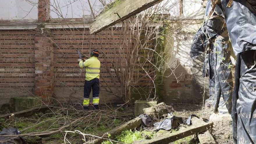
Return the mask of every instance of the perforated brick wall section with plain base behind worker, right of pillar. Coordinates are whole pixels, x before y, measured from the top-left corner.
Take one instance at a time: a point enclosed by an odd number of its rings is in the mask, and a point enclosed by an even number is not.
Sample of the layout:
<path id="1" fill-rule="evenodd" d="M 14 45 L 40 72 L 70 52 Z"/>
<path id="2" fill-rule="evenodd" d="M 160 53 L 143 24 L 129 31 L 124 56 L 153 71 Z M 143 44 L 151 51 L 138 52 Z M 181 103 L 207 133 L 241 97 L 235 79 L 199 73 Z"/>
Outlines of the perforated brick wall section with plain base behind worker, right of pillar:
<path id="1" fill-rule="evenodd" d="M 117 102 L 113 95 L 105 92 L 105 88 L 120 88 L 111 61 L 118 58 L 113 49 L 119 49 L 117 41 L 120 30 L 114 31 L 114 37 L 109 37 L 111 31 L 103 31 L 97 35 L 90 35 L 89 29 L 54 29 L 51 30 L 54 45 L 54 89 L 59 99 L 79 100 L 83 97 L 85 70 L 78 67 L 78 54 L 80 50 L 89 56 L 90 51 L 97 49 L 100 52 L 100 98 L 102 103 Z M 114 39 L 114 40 L 113 40 Z M 104 55 L 104 54 L 105 55 Z M 105 56 L 105 57 L 104 57 Z M 109 68 L 110 74 L 106 71 Z M 113 77 L 113 81 L 110 77 Z M 105 80 L 105 83 L 103 81 Z M 108 85 L 108 86 L 107 86 Z M 63 93 L 65 91 L 65 93 Z M 76 92 L 76 93 L 74 93 Z M 75 97 L 75 98 L 74 98 Z"/>

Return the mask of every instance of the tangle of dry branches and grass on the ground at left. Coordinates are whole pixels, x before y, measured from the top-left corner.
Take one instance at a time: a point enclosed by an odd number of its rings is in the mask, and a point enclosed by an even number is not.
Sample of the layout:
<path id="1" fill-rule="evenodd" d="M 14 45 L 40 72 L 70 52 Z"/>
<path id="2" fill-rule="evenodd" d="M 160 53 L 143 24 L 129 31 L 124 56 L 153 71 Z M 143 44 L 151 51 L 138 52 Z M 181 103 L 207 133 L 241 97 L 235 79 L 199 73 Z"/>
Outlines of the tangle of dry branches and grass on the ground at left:
<path id="1" fill-rule="evenodd" d="M 56 106 L 57 107 L 57 106 Z M 121 125 L 127 118 L 121 118 L 119 111 L 114 109 L 105 109 L 101 111 L 81 111 L 75 106 L 61 106 L 45 111 L 45 113 L 36 113 L 30 117 L 11 119 L 0 119 L 0 131 L 3 128 L 18 128 L 21 134 L 41 134 L 51 133 L 40 136 L 24 136 L 26 143 L 64 143 L 64 131 L 79 130 L 83 133 L 102 136 L 107 131 Z M 115 111 L 116 115 L 113 115 Z M 127 111 L 123 108 L 122 111 Z M 79 120 L 79 121 L 76 121 Z M 75 121 L 75 122 L 74 122 Z M 74 123 L 72 123 L 74 122 Z M 71 125 L 69 125 L 72 123 Z M 66 127 L 67 126 L 67 127 Z M 64 127 L 60 131 L 60 128 Z M 56 132 L 54 132 L 56 131 Z M 74 143 L 81 143 L 79 134 L 69 133 L 67 138 Z"/>

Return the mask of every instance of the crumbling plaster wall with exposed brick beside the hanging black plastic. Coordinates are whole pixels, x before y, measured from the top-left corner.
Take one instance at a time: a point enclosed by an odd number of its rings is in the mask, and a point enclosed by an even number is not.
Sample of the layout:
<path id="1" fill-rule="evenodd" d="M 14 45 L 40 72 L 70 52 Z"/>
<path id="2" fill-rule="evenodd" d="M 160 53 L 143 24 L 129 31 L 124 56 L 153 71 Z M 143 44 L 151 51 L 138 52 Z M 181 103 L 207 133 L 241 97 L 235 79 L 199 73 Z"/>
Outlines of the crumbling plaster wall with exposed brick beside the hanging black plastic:
<path id="1" fill-rule="evenodd" d="M 203 95 L 208 95 L 208 79 L 202 77 L 204 57 L 192 60 L 189 55 L 195 32 L 201 25 L 202 20 L 191 19 L 170 24 L 167 33 L 172 37 L 166 39 L 166 48 L 170 54 L 164 80 L 166 103 L 201 103 Z"/>

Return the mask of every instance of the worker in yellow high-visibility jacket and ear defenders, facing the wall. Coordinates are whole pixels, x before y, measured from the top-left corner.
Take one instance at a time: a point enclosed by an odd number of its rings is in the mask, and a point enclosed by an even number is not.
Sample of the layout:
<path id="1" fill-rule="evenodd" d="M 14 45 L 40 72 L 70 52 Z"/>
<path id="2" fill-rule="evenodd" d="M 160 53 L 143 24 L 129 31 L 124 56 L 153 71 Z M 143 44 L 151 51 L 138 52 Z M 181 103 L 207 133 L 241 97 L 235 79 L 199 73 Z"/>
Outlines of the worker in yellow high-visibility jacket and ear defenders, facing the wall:
<path id="1" fill-rule="evenodd" d="M 94 49 L 90 52 L 90 58 L 78 59 L 79 67 L 86 70 L 85 83 L 83 88 L 83 108 L 89 110 L 89 96 L 93 89 L 93 109 L 99 109 L 99 51 Z M 85 61 L 84 61 L 85 60 Z"/>

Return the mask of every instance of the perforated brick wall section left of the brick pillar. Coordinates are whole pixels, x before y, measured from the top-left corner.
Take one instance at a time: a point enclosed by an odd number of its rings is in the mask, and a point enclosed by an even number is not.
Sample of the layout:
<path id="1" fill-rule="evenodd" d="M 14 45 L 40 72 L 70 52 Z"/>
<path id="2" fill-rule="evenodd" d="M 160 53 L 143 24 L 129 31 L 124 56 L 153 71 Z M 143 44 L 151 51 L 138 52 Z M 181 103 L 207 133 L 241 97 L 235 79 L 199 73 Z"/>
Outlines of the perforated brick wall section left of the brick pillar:
<path id="1" fill-rule="evenodd" d="M 35 91 L 35 32 L 0 31 L 0 99 L 28 96 Z"/>

